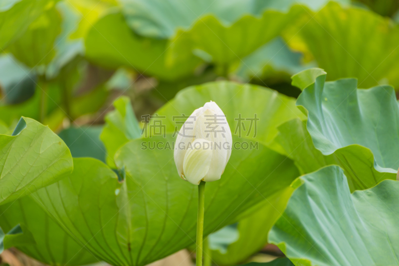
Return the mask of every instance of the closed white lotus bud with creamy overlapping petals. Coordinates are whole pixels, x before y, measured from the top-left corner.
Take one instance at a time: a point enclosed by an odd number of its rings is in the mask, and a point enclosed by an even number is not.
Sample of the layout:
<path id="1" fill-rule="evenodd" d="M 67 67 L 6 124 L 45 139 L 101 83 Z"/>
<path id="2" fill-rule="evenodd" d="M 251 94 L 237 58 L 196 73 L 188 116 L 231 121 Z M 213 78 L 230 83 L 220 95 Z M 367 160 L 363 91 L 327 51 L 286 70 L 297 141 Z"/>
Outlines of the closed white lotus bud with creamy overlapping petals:
<path id="1" fill-rule="evenodd" d="M 201 180 L 219 180 L 231 147 L 231 131 L 224 113 L 215 102 L 205 103 L 179 131 L 174 153 L 179 176 L 195 185 Z"/>

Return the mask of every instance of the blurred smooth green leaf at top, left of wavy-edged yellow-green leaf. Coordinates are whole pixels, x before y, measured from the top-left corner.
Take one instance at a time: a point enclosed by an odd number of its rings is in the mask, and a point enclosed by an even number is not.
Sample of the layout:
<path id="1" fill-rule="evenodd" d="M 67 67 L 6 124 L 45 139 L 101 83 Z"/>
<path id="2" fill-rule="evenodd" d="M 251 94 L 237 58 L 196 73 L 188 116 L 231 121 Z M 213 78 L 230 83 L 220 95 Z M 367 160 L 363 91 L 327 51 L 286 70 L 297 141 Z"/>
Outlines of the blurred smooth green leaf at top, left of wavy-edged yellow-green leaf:
<path id="1" fill-rule="evenodd" d="M 125 66 L 163 79 L 176 79 L 194 72 L 200 59 L 191 57 L 179 65 L 166 60 L 167 40 L 136 35 L 119 12 L 100 18 L 85 38 L 86 57 L 102 66 Z"/>

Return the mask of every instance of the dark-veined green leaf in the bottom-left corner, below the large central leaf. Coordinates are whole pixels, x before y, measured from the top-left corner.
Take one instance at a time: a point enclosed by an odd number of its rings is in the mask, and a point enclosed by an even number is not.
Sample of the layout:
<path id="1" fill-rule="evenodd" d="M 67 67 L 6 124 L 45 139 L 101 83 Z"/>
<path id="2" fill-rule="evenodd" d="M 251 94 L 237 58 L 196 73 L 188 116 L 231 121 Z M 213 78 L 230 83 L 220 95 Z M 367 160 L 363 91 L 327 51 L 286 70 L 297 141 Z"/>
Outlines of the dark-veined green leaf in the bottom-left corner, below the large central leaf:
<path id="1" fill-rule="evenodd" d="M 26 255 L 53 266 L 85 265 L 97 262 L 84 247 L 72 239 L 29 196 L 0 206 L 0 226 L 4 231 L 23 225 L 30 236 L 23 232 L 20 242 L 13 246 Z M 30 238 L 33 243 L 26 245 Z"/>

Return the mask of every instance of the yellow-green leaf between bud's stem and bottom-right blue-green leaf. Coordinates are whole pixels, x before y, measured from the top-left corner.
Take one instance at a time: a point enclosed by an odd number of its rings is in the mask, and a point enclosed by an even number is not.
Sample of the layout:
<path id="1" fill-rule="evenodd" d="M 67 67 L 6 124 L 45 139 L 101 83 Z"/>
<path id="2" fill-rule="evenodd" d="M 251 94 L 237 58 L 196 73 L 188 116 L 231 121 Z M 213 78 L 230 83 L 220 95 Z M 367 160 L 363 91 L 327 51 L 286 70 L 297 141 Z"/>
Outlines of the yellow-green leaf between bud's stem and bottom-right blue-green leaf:
<path id="1" fill-rule="evenodd" d="M 268 233 L 280 217 L 292 192 L 292 188 L 287 187 L 284 192 L 264 200 L 258 211 L 240 220 L 236 229 L 238 238 L 224 250 L 213 250 L 213 262 L 220 266 L 238 265 L 260 251 L 267 244 Z M 211 243 L 212 238 L 208 238 Z"/>

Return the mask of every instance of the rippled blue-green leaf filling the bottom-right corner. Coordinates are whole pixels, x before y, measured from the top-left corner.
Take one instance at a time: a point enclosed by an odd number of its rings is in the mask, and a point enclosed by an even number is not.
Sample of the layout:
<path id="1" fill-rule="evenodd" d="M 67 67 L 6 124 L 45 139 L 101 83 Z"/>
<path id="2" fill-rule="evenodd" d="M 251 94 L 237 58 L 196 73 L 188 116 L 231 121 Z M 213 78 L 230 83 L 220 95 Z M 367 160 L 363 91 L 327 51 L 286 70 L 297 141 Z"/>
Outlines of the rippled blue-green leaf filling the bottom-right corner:
<path id="1" fill-rule="evenodd" d="M 351 195 L 342 169 L 329 166 L 293 185 L 269 241 L 295 265 L 398 265 L 399 182 Z"/>

